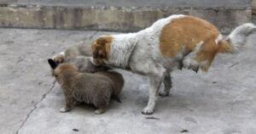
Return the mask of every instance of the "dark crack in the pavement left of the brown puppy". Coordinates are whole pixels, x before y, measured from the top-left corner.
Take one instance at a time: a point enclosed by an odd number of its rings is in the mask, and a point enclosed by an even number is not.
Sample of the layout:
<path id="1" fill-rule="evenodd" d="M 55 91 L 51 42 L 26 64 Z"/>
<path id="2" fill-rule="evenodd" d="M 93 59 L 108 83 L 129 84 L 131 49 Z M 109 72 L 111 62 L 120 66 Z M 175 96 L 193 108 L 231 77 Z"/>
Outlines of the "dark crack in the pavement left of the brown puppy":
<path id="1" fill-rule="evenodd" d="M 55 87 L 55 83 L 56 83 L 56 80 L 52 82 L 52 86 L 49 88 L 49 91 L 46 92 L 46 93 L 44 93 L 44 95 L 42 96 L 42 98 L 40 99 L 40 101 L 39 101 L 38 103 L 34 104 L 34 108 L 31 109 L 28 114 L 26 114 L 26 119 L 23 120 L 23 122 L 21 123 L 20 127 L 19 127 L 18 130 L 16 131 L 16 134 L 19 134 L 19 131 L 20 131 L 20 129 L 25 125 L 26 120 L 28 120 L 28 118 L 29 118 L 30 115 L 33 113 L 33 111 L 38 108 L 38 104 L 41 103 L 41 102 L 43 102 L 43 100 L 44 100 L 44 98 L 46 98 L 47 94 L 49 94 L 49 92 L 52 91 L 52 89 Z"/>

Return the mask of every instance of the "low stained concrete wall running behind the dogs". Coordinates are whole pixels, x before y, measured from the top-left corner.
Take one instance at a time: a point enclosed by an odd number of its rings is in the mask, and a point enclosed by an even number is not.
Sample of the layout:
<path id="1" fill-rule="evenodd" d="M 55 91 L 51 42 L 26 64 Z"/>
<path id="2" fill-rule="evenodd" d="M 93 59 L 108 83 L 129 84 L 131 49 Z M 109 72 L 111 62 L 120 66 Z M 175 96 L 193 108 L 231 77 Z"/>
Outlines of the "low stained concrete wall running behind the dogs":
<path id="1" fill-rule="evenodd" d="M 214 3 L 212 0 L 160 0 L 158 3 L 154 0 L 73 0 L 68 3 L 71 1 L 13 0 L 2 3 L 0 27 L 139 31 L 171 14 L 191 14 L 209 20 L 220 31 L 229 33 L 237 25 L 252 20 L 249 0 L 215 0 Z M 121 5 L 124 7 L 120 8 Z"/>

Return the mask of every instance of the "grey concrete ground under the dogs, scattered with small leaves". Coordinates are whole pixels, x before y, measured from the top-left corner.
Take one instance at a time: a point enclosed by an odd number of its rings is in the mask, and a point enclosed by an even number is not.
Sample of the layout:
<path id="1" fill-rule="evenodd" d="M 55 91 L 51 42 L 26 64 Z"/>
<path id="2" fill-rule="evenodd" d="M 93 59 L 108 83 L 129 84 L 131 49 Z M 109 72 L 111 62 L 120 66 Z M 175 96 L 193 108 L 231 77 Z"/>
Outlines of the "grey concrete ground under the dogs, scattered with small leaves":
<path id="1" fill-rule="evenodd" d="M 122 103 L 105 114 L 83 105 L 60 113 L 64 97 L 47 59 L 103 31 L 0 29 L 0 133 L 3 134 L 255 134 L 256 34 L 236 55 L 219 55 L 208 73 L 176 70 L 172 94 L 143 115 L 148 78 L 125 77 Z"/>

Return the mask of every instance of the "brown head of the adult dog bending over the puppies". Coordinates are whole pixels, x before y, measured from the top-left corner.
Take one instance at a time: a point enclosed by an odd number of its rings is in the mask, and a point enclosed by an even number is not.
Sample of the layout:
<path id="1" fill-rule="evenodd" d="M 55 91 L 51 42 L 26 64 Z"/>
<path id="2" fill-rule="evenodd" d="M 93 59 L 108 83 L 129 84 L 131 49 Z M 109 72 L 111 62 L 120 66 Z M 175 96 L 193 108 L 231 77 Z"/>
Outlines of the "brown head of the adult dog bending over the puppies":
<path id="1" fill-rule="evenodd" d="M 92 42 L 91 49 L 93 64 L 106 64 L 104 61 L 108 61 L 112 41 L 112 36 L 101 36 Z"/>

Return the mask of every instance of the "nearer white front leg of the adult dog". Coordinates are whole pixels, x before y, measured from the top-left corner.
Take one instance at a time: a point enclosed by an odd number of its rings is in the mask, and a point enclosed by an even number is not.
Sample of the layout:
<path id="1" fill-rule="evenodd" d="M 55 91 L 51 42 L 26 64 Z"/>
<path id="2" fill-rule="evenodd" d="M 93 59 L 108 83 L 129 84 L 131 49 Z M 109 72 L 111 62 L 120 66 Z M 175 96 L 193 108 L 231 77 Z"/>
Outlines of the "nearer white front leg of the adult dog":
<path id="1" fill-rule="evenodd" d="M 163 77 L 164 77 L 163 74 L 164 73 L 160 73 L 158 75 L 149 76 L 150 89 L 149 89 L 148 105 L 143 109 L 142 114 L 153 114 L 160 84 L 163 81 Z"/>

